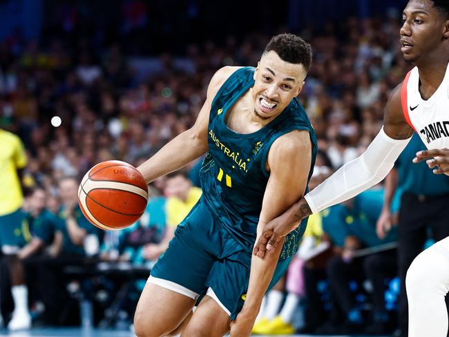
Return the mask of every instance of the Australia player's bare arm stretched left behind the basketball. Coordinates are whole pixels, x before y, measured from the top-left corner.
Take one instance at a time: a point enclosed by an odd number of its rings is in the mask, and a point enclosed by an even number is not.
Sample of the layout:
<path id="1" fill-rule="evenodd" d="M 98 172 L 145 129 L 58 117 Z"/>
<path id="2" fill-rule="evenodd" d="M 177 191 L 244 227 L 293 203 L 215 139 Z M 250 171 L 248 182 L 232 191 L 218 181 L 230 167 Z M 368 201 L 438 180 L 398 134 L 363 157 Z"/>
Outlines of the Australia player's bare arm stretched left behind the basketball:
<path id="1" fill-rule="evenodd" d="M 209 113 L 213 97 L 218 89 L 233 72 L 239 67 L 224 67 L 213 75 L 207 88 L 207 99 L 204 102 L 195 124 L 184 131 L 164 147 L 153 157 L 137 167 L 147 183 L 157 177 L 166 175 L 189 164 L 207 151 L 207 126 L 209 125 Z"/>

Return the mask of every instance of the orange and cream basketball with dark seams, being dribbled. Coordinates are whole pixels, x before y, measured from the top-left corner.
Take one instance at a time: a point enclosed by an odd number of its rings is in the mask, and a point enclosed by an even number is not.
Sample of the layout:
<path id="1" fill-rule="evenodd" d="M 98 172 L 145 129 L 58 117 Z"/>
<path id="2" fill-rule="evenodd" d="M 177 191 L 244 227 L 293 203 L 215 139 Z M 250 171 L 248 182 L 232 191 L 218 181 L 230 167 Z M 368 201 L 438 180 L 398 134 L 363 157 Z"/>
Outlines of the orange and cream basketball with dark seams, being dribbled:
<path id="1" fill-rule="evenodd" d="M 136 222 L 148 202 L 148 186 L 137 169 L 120 160 L 90 168 L 78 189 L 86 218 L 101 229 L 123 229 Z"/>

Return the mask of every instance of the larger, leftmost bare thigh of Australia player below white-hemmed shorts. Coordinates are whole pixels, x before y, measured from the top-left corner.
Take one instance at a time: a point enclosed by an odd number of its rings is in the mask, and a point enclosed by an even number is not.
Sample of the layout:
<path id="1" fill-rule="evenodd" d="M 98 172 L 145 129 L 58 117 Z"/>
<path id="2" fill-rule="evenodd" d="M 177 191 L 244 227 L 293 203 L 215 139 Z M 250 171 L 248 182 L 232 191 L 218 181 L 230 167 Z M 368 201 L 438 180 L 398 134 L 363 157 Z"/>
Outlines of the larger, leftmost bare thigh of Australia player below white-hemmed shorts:
<path id="1" fill-rule="evenodd" d="M 189 316 L 193 305 L 193 298 L 147 282 L 135 309 L 135 334 L 138 337 L 169 334 Z"/>

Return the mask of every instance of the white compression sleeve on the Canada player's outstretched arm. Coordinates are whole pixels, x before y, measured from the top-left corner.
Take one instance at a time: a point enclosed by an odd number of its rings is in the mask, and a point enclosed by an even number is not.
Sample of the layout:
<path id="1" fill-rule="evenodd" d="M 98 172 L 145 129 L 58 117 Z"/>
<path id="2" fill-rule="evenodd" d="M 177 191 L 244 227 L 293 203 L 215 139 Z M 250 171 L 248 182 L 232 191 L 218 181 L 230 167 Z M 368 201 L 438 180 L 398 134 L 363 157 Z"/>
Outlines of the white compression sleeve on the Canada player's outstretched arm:
<path id="1" fill-rule="evenodd" d="M 341 166 L 322 184 L 305 195 L 312 213 L 338 204 L 381 182 L 411 138 L 390 138 L 383 128 L 366 151 Z"/>

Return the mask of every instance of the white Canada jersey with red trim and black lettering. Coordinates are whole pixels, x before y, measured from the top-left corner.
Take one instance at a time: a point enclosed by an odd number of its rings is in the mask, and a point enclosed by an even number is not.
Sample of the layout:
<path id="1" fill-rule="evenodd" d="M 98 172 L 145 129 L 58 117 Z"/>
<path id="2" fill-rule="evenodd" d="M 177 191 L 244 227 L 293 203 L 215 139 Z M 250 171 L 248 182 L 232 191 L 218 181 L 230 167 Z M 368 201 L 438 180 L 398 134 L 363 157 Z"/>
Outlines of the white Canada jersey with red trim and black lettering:
<path id="1" fill-rule="evenodd" d="M 414 67 L 405 76 L 401 103 L 405 120 L 427 148 L 449 148 L 449 66 L 440 86 L 427 100 L 419 93 L 419 72 Z"/>

